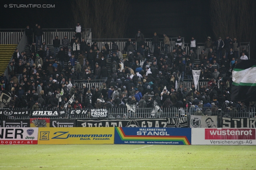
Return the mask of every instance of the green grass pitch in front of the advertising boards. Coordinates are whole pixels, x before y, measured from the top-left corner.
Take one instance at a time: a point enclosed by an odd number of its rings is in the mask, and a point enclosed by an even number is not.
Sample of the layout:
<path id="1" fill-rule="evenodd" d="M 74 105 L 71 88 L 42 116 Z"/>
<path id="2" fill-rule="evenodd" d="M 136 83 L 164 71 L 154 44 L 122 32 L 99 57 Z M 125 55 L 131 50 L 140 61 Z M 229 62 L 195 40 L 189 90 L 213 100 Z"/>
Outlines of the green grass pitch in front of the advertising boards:
<path id="1" fill-rule="evenodd" d="M 3 170 L 255 170 L 256 146 L 0 145 Z"/>

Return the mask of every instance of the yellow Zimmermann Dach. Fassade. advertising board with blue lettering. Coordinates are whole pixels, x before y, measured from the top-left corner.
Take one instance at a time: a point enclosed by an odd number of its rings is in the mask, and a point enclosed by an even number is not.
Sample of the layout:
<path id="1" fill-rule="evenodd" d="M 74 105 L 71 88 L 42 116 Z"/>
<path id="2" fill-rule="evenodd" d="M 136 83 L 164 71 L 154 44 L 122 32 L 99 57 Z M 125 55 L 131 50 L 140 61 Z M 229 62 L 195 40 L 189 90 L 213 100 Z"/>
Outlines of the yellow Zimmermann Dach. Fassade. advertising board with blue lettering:
<path id="1" fill-rule="evenodd" d="M 114 144 L 114 127 L 39 128 L 38 144 Z"/>

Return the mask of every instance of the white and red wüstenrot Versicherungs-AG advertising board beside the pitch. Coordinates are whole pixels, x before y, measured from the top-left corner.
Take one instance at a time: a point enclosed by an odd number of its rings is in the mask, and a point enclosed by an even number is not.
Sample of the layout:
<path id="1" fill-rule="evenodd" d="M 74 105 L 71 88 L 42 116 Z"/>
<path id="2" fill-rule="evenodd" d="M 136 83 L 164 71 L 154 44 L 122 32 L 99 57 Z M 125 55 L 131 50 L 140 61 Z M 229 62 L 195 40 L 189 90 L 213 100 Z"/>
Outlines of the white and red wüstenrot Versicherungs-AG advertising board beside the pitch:
<path id="1" fill-rule="evenodd" d="M 256 145 L 256 129 L 192 128 L 191 145 Z"/>

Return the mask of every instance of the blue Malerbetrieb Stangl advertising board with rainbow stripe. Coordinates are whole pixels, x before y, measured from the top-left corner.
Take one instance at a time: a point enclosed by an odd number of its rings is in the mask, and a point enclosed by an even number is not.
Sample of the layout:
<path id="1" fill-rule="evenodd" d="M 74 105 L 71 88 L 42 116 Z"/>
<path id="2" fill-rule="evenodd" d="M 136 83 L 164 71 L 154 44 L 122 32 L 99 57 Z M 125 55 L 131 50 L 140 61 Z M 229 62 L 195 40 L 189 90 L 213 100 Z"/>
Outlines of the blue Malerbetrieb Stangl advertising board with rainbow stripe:
<path id="1" fill-rule="evenodd" d="M 115 127 L 114 144 L 191 145 L 191 128 Z"/>

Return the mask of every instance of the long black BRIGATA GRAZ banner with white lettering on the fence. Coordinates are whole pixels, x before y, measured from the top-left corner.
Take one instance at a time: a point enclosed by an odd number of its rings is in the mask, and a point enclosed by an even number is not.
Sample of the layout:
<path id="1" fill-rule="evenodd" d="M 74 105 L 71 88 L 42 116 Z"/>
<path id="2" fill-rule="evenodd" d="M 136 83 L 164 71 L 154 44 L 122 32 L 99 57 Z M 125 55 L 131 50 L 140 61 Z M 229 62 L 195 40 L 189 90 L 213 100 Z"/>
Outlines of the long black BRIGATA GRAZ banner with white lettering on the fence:
<path id="1" fill-rule="evenodd" d="M 187 118 L 78 120 L 77 127 L 188 127 Z"/>

